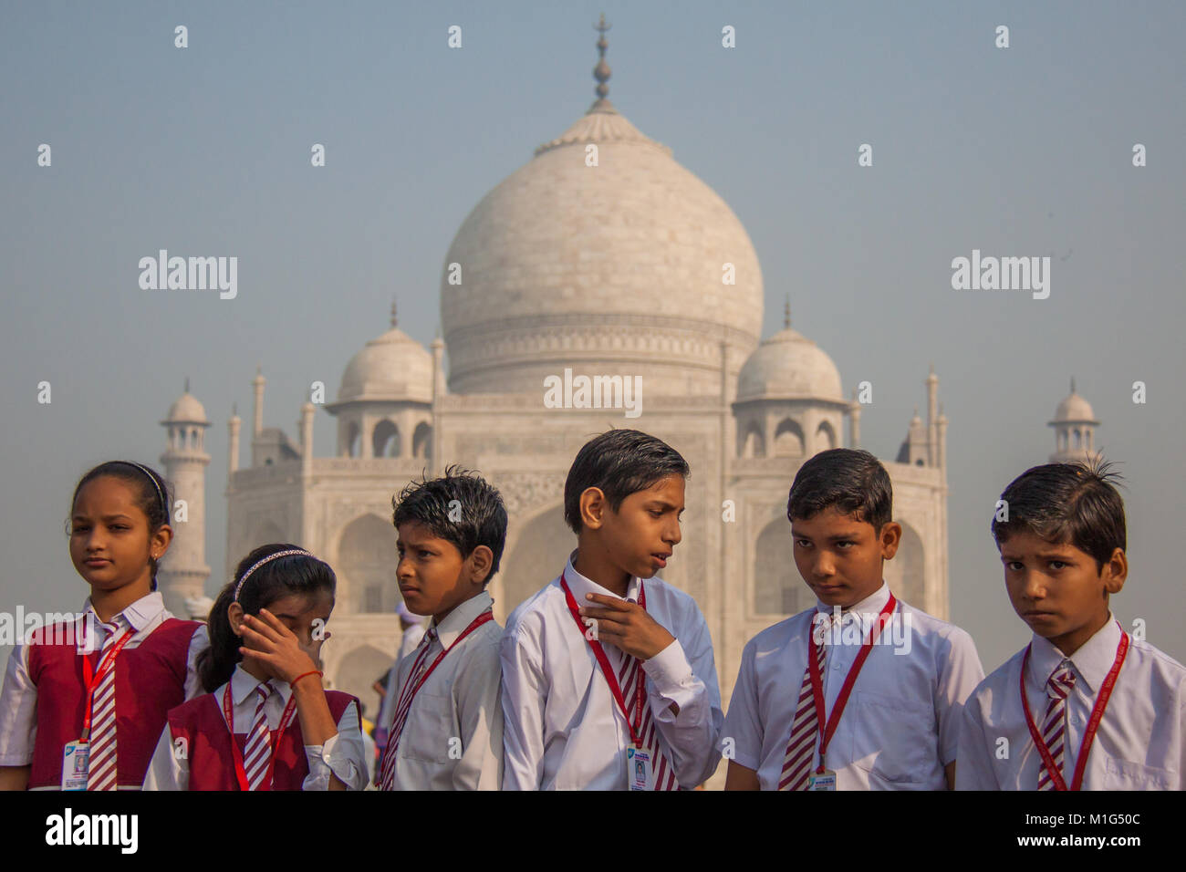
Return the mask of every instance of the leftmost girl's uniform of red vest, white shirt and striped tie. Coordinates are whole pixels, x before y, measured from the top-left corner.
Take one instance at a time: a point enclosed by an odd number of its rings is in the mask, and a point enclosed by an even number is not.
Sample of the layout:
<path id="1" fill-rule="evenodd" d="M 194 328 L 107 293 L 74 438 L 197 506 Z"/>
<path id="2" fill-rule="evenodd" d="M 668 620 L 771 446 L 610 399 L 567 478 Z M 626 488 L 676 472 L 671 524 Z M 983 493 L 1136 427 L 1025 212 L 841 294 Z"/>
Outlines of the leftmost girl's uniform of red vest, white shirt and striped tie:
<path id="1" fill-rule="evenodd" d="M 95 670 L 121 642 L 104 681 Z M 89 666 L 95 700 L 88 789 L 139 790 L 166 713 L 200 693 L 195 663 L 208 645 L 205 624 L 174 618 L 160 592 L 107 624 L 88 597 L 81 616 L 40 628 L 8 657 L 0 766 L 30 765 L 31 790 L 63 787 L 66 745 L 82 738 Z"/>

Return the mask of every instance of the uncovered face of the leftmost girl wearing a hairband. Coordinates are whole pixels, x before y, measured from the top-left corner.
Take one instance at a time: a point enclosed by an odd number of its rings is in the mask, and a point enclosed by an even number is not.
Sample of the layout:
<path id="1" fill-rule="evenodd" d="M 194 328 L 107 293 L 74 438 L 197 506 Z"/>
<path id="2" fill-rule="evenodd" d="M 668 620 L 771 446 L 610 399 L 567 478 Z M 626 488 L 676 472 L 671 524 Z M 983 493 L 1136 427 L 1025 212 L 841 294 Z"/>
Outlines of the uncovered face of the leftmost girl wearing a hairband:
<path id="1" fill-rule="evenodd" d="M 148 517 L 135 488 L 114 476 L 93 478 L 78 491 L 70 515 L 70 560 L 93 588 L 152 587 L 149 558 L 160 559 L 173 532 L 168 524 L 149 535 Z"/>

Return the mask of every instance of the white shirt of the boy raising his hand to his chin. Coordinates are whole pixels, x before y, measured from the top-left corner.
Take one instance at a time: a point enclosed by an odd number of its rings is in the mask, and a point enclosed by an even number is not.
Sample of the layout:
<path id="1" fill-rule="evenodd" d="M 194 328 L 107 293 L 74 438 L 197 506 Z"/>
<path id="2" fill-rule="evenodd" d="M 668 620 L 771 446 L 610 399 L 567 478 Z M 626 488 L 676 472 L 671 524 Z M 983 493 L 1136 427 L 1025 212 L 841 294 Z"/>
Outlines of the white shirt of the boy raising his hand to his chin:
<path id="1" fill-rule="evenodd" d="M 576 572 L 572 556 L 565 577 L 578 605 L 592 605 L 586 593 L 621 599 Z M 721 757 L 716 739 L 723 714 L 713 641 L 696 600 L 657 577 L 630 579 L 626 599 L 638 599 L 639 584 L 645 585 L 648 613 L 675 636 L 643 661 L 646 701 L 676 778 L 694 788 L 712 776 Z M 617 673 L 623 653 L 601 644 Z M 630 730 L 568 610 L 560 578 L 508 619 L 502 663 L 503 789 L 625 790 Z M 671 714 L 672 702 L 678 714 Z"/>

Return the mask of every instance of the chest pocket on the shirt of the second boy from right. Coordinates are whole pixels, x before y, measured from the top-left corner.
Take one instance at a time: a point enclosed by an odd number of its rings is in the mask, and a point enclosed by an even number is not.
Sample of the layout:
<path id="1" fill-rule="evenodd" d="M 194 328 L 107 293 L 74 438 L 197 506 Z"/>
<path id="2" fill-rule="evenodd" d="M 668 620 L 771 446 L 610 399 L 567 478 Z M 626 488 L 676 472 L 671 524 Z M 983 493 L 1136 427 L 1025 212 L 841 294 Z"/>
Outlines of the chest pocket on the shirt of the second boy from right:
<path id="1" fill-rule="evenodd" d="M 856 690 L 849 701 L 853 705 L 855 766 L 907 789 L 935 781 L 938 737 L 930 706 L 868 690 Z M 843 717 L 848 714 L 846 711 Z"/>

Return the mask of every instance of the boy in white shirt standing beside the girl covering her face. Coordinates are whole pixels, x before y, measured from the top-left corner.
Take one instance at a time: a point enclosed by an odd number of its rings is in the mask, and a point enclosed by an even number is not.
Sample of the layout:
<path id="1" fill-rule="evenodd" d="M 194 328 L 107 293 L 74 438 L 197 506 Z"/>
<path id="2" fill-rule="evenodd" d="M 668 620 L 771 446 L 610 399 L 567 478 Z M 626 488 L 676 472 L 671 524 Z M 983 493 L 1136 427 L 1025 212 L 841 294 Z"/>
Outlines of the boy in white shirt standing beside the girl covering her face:
<path id="1" fill-rule="evenodd" d="M 415 615 L 432 615 L 400 661 L 385 724 L 381 790 L 498 790 L 502 628 L 486 585 L 506 539 L 506 509 L 480 476 L 449 466 L 391 501 L 396 579 Z"/>

